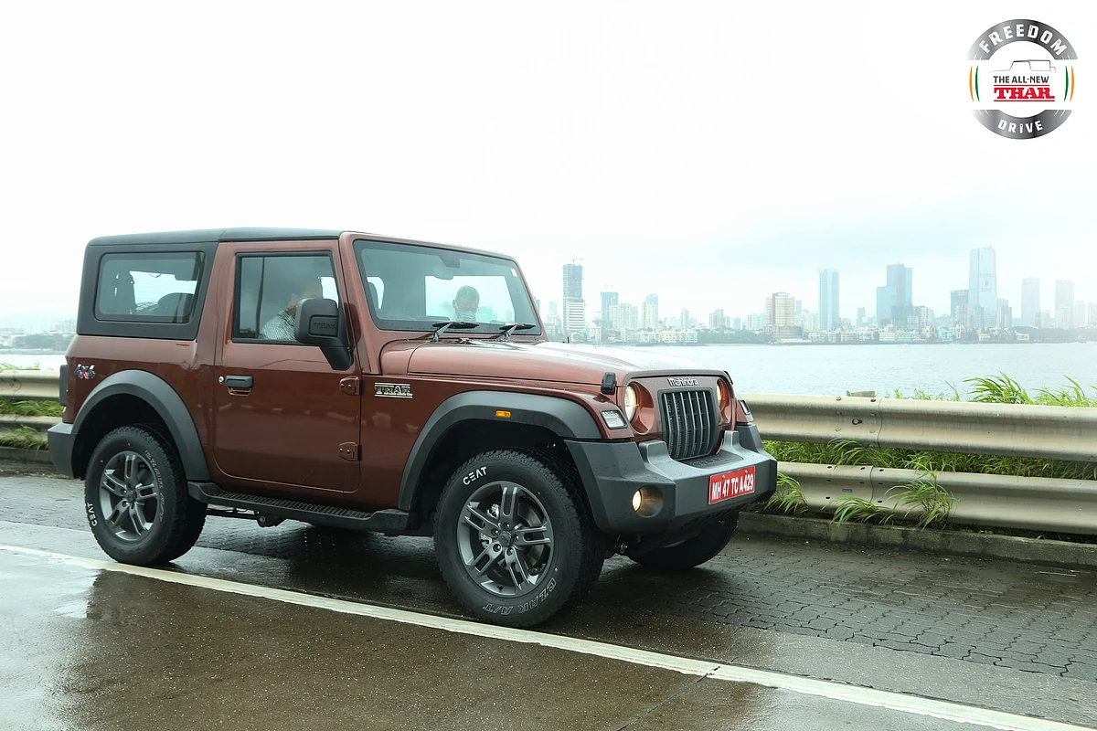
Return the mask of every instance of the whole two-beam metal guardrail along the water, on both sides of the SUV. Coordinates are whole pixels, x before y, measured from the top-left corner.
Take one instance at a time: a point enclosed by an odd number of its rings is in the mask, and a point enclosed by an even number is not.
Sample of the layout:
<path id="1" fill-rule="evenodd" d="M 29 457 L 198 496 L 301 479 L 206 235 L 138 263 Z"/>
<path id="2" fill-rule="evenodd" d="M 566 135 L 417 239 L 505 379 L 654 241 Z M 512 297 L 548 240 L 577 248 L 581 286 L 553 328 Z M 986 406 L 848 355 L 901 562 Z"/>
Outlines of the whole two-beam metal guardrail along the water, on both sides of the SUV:
<path id="1" fill-rule="evenodd" d="M 56 400 L 56 372 L 0 372 L 0 397 Z M 960 454 L 1097 461 L 1097 409 L 916 401 L 868 397 L 742 393 L 762 436 L 783 442 L 852 439 L 878 447 Z M 57 419 L 0 416 L 0 431 Z M 900 509 L 892 488 L 919 479 L 915 470 L 781 462 L 815 511 L 842 496 Z M 1061 480 L 938 472 L 957 503 L 953 523 L 1097 535 L 1097 480 Z"/>

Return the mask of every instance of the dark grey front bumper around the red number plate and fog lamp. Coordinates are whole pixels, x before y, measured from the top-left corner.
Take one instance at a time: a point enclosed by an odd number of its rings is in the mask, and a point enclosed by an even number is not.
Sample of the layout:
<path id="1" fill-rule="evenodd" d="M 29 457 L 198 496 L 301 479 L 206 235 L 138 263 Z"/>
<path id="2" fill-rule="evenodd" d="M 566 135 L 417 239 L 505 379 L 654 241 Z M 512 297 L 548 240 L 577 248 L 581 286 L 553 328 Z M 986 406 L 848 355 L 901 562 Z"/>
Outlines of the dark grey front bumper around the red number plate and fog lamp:
<path id="1" fill-rule="evenodd" d="M 766 452 L 753 423 L 724 433 L 720 449 L 709 457 L 676 461 L 665 442 L 573 442 L 575 458 L 590 501 L 595 523 L 613 534 L 674 533 L 698 518 L 735 512 L 769 498 L 777 490 L 777 460 Z M 709 504 L 709 479 L 744 467 L 755 468 L 755 491 Z M 644 516 L 632 507 L 633 494 L 658 492 L 661 509 Z"/>

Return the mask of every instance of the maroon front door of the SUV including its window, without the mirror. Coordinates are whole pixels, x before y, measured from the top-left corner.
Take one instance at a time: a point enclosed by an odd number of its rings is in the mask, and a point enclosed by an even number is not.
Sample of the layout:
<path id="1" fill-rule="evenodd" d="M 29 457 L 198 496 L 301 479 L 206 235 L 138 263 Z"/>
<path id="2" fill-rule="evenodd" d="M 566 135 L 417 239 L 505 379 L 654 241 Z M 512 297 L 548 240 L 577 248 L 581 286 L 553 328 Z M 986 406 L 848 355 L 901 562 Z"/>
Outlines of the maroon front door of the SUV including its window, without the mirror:
<path id="1" fill-rule="evenodd" d="M 301 299 L 323 296 L 342 307 L 336 242 L 303 241 L 293 252 L 222 245 L 233 248 L 234 286 L 224 288 L 214 379 L 218 469 L 265 492 L 357 490 L 361 397 L 342 381 L 359 366 L 333 370 L 319 347 L 293 333 Z"/>

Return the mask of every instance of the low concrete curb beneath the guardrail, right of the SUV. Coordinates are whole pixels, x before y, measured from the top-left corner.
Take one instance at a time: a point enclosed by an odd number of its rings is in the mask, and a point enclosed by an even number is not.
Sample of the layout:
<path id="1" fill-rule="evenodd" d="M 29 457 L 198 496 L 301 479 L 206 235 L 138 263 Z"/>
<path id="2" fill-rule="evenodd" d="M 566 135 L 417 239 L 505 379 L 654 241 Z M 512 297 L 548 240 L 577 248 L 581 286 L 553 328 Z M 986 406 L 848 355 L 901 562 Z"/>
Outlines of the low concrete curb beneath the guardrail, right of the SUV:
<path id="1" fill-rule="evenodd" d="M 925 553 L 1007 559 L 1026 563 L 1097 569 L 1097 545 L 957 530 L 923 530 L 867 523 L 837 524 L 817 517 L 739 513 L 738 534 L 806 538 L 849 546 L 902 548 Z"/>

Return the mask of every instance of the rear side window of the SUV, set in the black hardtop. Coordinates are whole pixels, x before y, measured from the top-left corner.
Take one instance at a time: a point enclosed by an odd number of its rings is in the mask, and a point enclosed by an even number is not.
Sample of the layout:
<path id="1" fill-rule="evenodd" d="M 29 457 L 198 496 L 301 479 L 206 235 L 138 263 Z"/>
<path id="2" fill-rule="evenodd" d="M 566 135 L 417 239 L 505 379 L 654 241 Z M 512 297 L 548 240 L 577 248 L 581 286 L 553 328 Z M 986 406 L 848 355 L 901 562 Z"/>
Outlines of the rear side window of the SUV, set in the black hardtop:
<path id="1" fill-rule="evenodd" d="M 189 322 L 203 263 L 200 252 L 105 254 L 99 262 L 95 319 Z"/>

